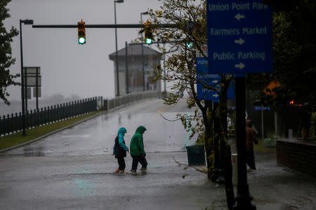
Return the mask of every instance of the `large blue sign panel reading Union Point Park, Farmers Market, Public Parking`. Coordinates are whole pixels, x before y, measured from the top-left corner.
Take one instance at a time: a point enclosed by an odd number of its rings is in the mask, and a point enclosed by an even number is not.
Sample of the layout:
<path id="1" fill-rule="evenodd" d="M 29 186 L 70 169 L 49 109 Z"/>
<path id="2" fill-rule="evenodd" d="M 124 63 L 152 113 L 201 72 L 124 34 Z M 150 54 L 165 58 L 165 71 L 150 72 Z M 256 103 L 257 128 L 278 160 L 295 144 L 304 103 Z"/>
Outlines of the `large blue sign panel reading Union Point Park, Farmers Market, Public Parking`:
<path id="1" fill-rule="evenodd" d="M 262 0 L 207 0 L 209 73 L 272 71 L 272 10 Z"/>

